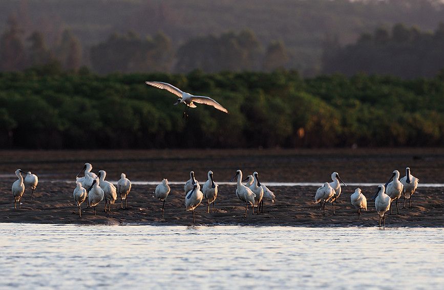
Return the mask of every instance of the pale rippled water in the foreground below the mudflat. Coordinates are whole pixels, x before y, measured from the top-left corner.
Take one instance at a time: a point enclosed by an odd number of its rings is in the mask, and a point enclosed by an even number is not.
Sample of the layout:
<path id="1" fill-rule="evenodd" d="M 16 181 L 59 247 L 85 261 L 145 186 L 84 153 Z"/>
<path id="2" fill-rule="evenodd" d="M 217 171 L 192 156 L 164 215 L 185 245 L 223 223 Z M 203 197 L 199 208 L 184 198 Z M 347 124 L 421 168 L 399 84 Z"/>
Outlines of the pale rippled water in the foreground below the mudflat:
<path id="1" fill-rule="evenodd" d="M 0 224 L 0 288 L 442 289 L 444 229 Z"/>

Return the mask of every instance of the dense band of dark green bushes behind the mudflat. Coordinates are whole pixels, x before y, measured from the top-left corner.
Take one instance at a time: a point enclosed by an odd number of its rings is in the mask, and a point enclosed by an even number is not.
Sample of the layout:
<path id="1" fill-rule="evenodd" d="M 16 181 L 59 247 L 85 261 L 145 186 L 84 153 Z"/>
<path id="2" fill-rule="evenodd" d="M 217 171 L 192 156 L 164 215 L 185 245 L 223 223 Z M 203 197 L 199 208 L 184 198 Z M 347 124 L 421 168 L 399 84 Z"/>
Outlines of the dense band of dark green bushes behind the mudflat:
<path id="1" fill-rule="evenodd" d="M 215 98 L 182 119 L 172 83 Z M 357 74 L 110 74 L 60 65 L 0 73 L 2 148 L 234 148 L 444 145 L 444 72 L 402 80 Z"/>

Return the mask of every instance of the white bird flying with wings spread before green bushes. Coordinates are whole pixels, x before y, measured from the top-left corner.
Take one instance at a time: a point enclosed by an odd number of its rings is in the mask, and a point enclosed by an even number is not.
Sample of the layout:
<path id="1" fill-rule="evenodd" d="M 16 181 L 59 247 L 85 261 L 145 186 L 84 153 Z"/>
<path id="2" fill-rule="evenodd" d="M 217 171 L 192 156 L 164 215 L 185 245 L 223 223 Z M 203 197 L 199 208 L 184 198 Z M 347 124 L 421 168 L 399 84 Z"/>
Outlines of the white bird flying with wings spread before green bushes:
<path id="1" fill-rule="evenodd" d="M 175 94 L 176 96 L 179 97 L 179 99 L 177 99 L 177 102 L 174 105 L 177 105 L 179 103 L 184 103 L 185 106 L 185 110 L 183 111 L 183 115 L 182 118 L 185 117 L 186 114 L 186 119 L 188 119 L 188 110 L 190 107 L 195 108 L 196 105 L 194 103 L 198 103 L 198 104 L 205 104 L 205 105 L 210 105 L 213 106 L 215 108 L 217 108 L 218 110 L 221 110 L 225 113 L 228 114 L 228 110 L 226 108 L 224 108 L 221 104 L 219 104 L 218 102 L 216 102 L 215 100 L 213 100 L 212 98 L 209 97 L 204 97 L 204 96 L 194 96 L 185 92 L 182 92 L 181 90 L 179 90 L 177 87 L 175 87 L 174 85 L 171 85 L 169 83 L 166 82 L 160 82 L 160 81 L 145 81 L 146 84 L 155 86 L 157 88 L 162 88 L 163 90 L 166 90 L 170 93 Z"/>

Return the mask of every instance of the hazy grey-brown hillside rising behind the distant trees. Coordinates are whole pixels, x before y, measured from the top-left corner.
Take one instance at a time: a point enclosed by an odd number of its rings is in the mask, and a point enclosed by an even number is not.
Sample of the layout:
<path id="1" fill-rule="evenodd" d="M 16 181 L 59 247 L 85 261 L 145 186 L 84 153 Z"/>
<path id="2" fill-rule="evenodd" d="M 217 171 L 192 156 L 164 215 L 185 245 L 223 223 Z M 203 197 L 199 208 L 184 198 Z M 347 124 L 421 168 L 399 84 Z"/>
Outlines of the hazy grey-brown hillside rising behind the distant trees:
<path id="1" fill-rule="evenodd" d="M 127 35 L 131 31 L 138 36 L 139 44 L 148 48 L 153 48 L 152 43 L 145 41 L 145 37 L 155 38 L 159 32 L 163 33 L 176 53 L 170 62 L 173 64 L 183 57 L 177 54 L 179 48 L 190 49 L 194 41 L 208 43 L 212 38 L 220 40 L 227 32 L 251 31 L 260 41 L 260 57 L 267 58 L 264 62 L 257 59 L 255 68 L 270 68 L 270 59 L 276 56 L 266 52 L 276 48 L 273 43 L 280 41 L 285 50 L 278 54 L 284 55 L 279 58 L 283 60 L 279 64 L 298 70 L 303 76 L 314 76 L 322 72 L 321 56 L 327 37 L 338 39 L 339 44 L 345 46 L 355 42 L 363 32 L 397 23 L 417 26 L 427 32 L 436 29 L 444 19 L 443 6 L 439 0 L 273 0 L 272 3 L 269 0 L 8 0 L 0 1 L 0 33 L 8 33 L 8 19 L 14 17 L 19 24 L 17 37 L 25 46 L 30 46 L 27 39 L 33 33 L 41 33 L 57 59 L 67 68 L 78 68 L 94 64 L 90 59 L 91 48 L 108 43 L 116 33 Z M 72 36 L 63 40 L 62 35 L 67 31 Z M 69 52 L 57 52 L 67 48 Z M 155 47 L 153 50 L 156 53 Z M 128 53 L 122 54 L 128 59 Z M 273 61 L 271 68 L 276 63 Z M 155 65 L 149 71 L 156 70 Z M 189 72 L 197 66 L 186 68 Z M 116 70 L 106 65 L 92 68 L 100 73 L 107 69 Z M 170 73 L 183 72 L 182 66 L 171 65 L 167 69 Z M 223 66 L 201 69 L 218 72 Z M 120 72 L 134 70 L 132 62 L 118 69 Z"/>

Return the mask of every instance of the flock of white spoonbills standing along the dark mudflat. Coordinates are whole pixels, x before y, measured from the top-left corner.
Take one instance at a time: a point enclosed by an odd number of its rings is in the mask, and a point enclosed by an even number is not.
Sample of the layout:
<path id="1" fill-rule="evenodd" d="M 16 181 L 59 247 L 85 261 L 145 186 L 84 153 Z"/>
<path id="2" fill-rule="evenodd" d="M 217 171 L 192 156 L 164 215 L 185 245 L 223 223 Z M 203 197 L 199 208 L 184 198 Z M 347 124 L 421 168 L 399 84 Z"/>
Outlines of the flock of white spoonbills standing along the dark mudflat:
<path id="1" fill-rule="evenodd" d="M 117 199 L 117 194 L 120 195 L 120 208 L 127 209 L 126 207 L 126 197 L 131 190 L 131 181 L 126 178 L 125 173 L 120 175 L 120 180 L 117 182 L 117 187 L 111 182 L 105 180 L 107 172 L 100 170 L 98 175 L 91 172 L 92 165 L 90 163 L 85 163 L 83 168 L 76 176 L 76 188 L 73 192 L 74 200 L 79 209 L 79 217 L 81 217 L 80 205 L 87 201 L 87 207 L 94 208 L 94 215 L 96 214 L 95 206 L 99 204 L 103 199 L 105 199 L 105 212 L 111 209 L 111 204 L 114 204 Z M 78 177 L 81 173 L 84 176 Z M 23 178 L 21 173 L 26 174 Z M 194 209 L 200 205 L 202 200 L 205 198 L 207 200 L 207 213 L 209 213 L 209 205 L 213 204 L 213 210 L 216 212 L 215 200 L 218 193 L 218 185 L 214 182 L 213 171 L 209 170 L 207 177 L 208 180 L 204 183 L 203 187 L 200 186 L 199 182 L 196 180 L 194 171 L 189 172 L 189 180 L 185 182 L 185 209 L 186 211 L 191 210 L 193 212 L 193 221 L 196 222 Z M 30 171 L 25 172 L 21 169 L 15 171 L 18 180 L 12 184 L 12 195 L 14 196 L 14 208 L 16 208 L 17 202 L 19 203 L 25 192 L 25 184 L 31 187 L 31 199 L 32 193 L 37 186 L 38 178 L 35 174 Z M 236 175 L 231 179 L 234 181 L 237 177 L 237 188 L 236 196 L 245 203 L 245 216 L 247 215 L 248 204 L 251 205 L 252 213 L 254 213 L 255 207 L 257 208 L 257 213 L 264 211 L 264 199 L 270 199 L 274 203 L 276 196 L 269 190 L 265 185 L 259 182 L 258 172 L 253 172 L 252 175 L 248 175 L 245 180 L 242 180 L 242 171 L 237 170 Z M 341 183 L 347 186 L 339 177 L 339 173 L 333 172 L 331 174 L 332 182 L 324 183 L 324 185 L 316 191 L 315 203 L 320 203 L 322 208 L 322 202 L 324 202 L 323 214 L 325 215 L 325 205 L 327 202 L 331 203 L 333 206 L 334 214 L 334 202 L 341 194 Z M 246 185 L 242 182 L 247 181 Z M 379 185 L 376 194 L 372 199 L 375 200 L 375 208 L 379 215 L 379 227 L 381 226 L 381 219 L 383 219 L 383 226 L 385 227 L 385 214 L 390 209 L 391 205 L 395 201 L 397 214 L 399 214 L 398 209 L 398 199 L 401 195 L 404 195 L 404 207 L 406 206 L 406 199 L 409 199 L 410 207 L 412 194 L 415 192 L 418 186 L 419 180 L 410 173 L 410 168 L 406 168 L 406 176 L 399 179 L 399 171 L 394 170 L 389 181 L 385 185 Z M 162 204 L 162 217 L 165 206 L 165 199 L 170 193 L 170 186 L 168 186 L 168 180 L 163 179 L 155 189 L 155 196 L 159 198 Z M 125 208 L 123 208 L 123 200 L 125 200 Z M 367 198 L 362 193 L 360 188 L 356 188 L 354 193 L 350 196 L 351 204 L 357 209 L 358 219 L 361 215 L 361 209 L 367 210 Z"/>

